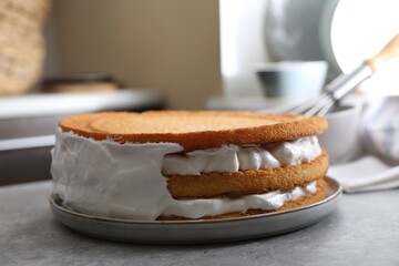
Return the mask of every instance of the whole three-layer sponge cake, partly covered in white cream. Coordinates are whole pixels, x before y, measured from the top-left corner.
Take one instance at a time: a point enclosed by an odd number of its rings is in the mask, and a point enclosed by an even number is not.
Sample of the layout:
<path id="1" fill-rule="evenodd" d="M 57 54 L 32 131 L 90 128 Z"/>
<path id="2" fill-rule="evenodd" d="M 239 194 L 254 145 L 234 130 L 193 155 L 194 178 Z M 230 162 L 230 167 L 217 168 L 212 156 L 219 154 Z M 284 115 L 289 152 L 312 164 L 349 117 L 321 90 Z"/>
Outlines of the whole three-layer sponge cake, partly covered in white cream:
<path id="1" fill-rule="evenodd" d="M 73 115 L 57 131 L 53 193 L 76 212 L 136 221 L 301 206 L 326 196 L 326 129 L 324 117 L 252 112 Z"/>

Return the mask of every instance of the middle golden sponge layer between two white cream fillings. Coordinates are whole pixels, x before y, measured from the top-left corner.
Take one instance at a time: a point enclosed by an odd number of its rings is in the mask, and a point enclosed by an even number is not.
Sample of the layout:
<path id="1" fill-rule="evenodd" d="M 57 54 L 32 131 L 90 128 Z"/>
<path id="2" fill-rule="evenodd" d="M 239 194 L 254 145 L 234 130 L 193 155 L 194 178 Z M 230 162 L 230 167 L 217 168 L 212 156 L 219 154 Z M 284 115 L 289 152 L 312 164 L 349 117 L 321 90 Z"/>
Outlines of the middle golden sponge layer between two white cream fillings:
<path id="1" fill-rule="evenodd" d="M 323 178 L 327 170 L 328 156 L 324 151 L 310 163 L 299 165 L 166 177 L 167 190 L 174 198 L 207 198 L 224 194 L 248 195 L 289 190 L 296 185 Z"/>

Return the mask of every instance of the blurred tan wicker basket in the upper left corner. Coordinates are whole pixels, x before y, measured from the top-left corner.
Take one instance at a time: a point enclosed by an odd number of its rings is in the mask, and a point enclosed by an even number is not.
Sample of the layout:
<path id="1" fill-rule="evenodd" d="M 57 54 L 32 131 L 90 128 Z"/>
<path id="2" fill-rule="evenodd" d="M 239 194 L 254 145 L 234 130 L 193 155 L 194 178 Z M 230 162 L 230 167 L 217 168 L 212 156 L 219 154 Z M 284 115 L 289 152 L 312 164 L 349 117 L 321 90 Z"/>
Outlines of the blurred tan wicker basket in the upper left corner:
<path id="1" fill-rule="evenodd" d="M 24 93 L 40 78 L 49 1 L 0 0 L 0 95 Z"/>

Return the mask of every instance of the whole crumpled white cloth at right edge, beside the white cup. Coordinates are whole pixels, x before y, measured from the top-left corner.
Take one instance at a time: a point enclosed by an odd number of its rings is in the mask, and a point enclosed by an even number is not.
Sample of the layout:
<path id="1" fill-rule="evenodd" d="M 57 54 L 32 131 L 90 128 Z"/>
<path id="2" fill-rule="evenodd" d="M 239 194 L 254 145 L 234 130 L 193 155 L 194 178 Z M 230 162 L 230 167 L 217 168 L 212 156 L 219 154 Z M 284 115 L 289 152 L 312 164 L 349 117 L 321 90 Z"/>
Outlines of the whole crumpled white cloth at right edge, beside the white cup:
<path id="1" fill-rule="evenodd" d="M 360 102 L 362 157 L 330 165 L 327 175 L 337 180 L 346 193 L 399 187 L 399 96 Z"/>

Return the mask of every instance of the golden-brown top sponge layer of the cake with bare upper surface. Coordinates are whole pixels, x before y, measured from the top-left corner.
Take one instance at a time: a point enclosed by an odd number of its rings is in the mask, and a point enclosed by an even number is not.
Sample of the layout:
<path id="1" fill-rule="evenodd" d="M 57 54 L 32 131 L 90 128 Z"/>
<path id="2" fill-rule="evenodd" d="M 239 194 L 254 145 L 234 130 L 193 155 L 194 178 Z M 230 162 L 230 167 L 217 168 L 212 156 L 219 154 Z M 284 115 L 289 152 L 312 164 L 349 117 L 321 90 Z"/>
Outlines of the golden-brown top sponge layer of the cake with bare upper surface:
<path id="1" fill-rule="evenodd" d="M 317 135 L 328 127 L 325 117 L 235 111 L 106 112 L 72 115 L 63 132 L 116 142 L 173 142 L 185 151 L 223 144 L 260 144 Z"/>

